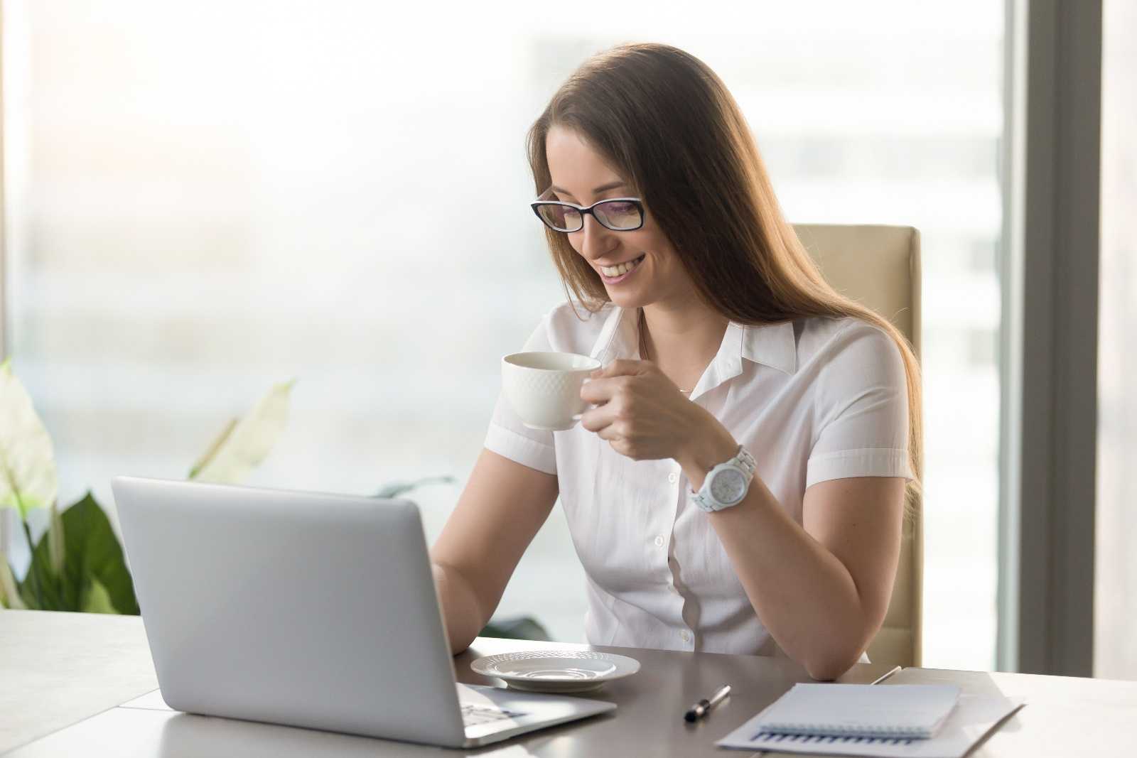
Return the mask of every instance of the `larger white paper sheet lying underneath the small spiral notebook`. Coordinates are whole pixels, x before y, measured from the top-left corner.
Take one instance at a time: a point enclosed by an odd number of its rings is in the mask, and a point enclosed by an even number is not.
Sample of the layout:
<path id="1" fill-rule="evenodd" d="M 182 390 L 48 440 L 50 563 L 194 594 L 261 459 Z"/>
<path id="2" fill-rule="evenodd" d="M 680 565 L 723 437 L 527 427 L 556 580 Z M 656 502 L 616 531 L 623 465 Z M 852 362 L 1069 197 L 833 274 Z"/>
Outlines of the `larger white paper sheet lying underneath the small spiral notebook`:
<path id="1" fill-rule="evenodd" d="M 889 685 L 893 686 L 899 685 Z M 763 711 L 715 744 L 741 750 L 781 750 L 828 756 L 963 758 L 993 727 L 1021 708 L 1023 702 L 986 694 L 962 694 L 944 725 L 935 736 L 927 740 L 771 734 L 757 727 L 765 713 Z"/>

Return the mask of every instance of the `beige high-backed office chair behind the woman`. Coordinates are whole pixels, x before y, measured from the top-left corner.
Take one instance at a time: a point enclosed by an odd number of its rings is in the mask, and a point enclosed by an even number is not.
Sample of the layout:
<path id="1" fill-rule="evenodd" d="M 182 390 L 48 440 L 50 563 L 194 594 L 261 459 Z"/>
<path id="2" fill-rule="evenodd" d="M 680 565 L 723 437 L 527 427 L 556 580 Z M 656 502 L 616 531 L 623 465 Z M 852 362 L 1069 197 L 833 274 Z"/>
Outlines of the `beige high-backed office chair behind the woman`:
<path id="1" fill-rule="evenodd" d="M 911 226 L 828 224 L 796 224 L 794 228 L 833 289 L 888 318 L 908 338 L 919 358 L 920 232 Z M 920 665 L 923 513 L 919 499 L 912 505 L 888 615 L 869 645 L 873 663 Z"/>

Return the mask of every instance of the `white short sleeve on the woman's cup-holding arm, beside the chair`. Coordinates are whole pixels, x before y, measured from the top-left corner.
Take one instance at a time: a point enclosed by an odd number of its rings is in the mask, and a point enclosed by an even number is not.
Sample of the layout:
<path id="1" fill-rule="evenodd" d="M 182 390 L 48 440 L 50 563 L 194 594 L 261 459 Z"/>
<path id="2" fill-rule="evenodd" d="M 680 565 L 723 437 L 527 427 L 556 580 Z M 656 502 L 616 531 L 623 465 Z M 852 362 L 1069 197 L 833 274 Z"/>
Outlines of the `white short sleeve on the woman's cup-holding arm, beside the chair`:
<path id="1" fill-rule="evenodd" d="M 899 345 L 860 319 L 838 332 L 815 385 L 818 432 L 805 486 L 853 476 L 913 478 L 907 374 Z"/>

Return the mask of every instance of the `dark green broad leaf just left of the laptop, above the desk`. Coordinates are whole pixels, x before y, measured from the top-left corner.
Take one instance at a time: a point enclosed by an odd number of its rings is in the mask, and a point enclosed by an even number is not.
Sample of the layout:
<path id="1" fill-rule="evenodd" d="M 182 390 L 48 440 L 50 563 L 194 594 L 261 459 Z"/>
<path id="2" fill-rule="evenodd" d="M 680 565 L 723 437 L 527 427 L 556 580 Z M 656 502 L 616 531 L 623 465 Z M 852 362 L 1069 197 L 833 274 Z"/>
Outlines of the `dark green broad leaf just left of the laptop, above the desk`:
<path id="1" fill-rule="evenodd" d="M 56 575 L 50 570 L 50 538 L 44 535 L 32 552 L 27 576 L 19 586 L 24 602 L 36 607 L 32 582 L 38 580 L 43 597 L 39 606 L 42 610 L 84 610 L 92 603 L 102 607 L 101 592 L 116 613 L 138 615 L 134 582 L 126 568 L 123 548 L 107 514 L 91 493 L 67 508 L 60 522 L 67 534 L 63 572 Z M 101 590 L 92 590 L 92 582 Z"/>

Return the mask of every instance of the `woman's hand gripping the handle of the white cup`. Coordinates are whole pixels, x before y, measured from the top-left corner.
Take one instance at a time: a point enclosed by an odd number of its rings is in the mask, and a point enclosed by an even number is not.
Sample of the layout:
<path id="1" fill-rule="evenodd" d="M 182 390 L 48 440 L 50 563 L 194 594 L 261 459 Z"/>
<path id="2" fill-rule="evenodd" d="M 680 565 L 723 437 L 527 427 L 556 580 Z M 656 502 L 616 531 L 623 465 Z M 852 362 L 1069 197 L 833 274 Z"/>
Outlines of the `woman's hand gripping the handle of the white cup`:
<path id="1" fill-rule="evenodd" d="M 581 415 L 581 426 L 632 460 L 678 460 L 708 418 L 717 423 L 649 360 L 613 360 L 592 372 L 580 397 L 598 405 Z"/>

